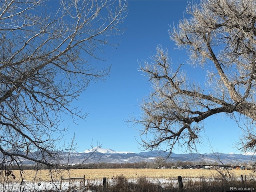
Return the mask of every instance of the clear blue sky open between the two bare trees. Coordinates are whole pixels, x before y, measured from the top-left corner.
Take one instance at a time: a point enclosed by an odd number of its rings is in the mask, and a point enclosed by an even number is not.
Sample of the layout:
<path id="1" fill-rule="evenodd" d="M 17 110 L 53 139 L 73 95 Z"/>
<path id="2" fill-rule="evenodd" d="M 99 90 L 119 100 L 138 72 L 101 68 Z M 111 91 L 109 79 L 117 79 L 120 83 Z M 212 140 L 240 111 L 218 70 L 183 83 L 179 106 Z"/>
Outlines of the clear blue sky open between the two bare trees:
<path id="1" fill-rule="evenodd" d="M 77 124 L 69 118 L 63 122 L 63 126 L 69 125 L 64 138 L 68 142 L 75 133 L 78 152 L 89 149 L 91 143 L 116 151 L 141 152 L 136 141 L 140 139 L 138 131 L 125 121 L 130 116 L 140 115 L 138 105 L 150 92 L 150 83 L 138 71 L 139 63 L 155 54 L 158 44 L 168 48 L 174 65 L 185 61 L 186 52 L 174 49 L 168 30 L 187 16 L 186 5 L 187 1 L 183 0 L 128 1 L 129 12 L 124 22 L 127 30 L 121 36 L 110 38 L 120 45 L 106 46 L 104 57 L 107 61 L 99 64 L 112 65 L 110 75 L 105 82 L 91 83 L 80 95 L 80 101 L 73 103 L 89 112 L 88 117 L 78 120 Z M 187 66 L 188 74 L 192 69 Z M 193 73 L 195 78 L 204 79 L 202 69 L 193 70 Z M 198 151 L 210 153 L 213 149 L 215 152 L 240 153 L 234 148 L 239 135 L 235 122 L 225 116 L 213 116 L 205 122 L 205 131 L 201 135 L 203 144 L 198 146 Z M 176 148 L 173 152 L 183 153 L 184 149 Z"/>

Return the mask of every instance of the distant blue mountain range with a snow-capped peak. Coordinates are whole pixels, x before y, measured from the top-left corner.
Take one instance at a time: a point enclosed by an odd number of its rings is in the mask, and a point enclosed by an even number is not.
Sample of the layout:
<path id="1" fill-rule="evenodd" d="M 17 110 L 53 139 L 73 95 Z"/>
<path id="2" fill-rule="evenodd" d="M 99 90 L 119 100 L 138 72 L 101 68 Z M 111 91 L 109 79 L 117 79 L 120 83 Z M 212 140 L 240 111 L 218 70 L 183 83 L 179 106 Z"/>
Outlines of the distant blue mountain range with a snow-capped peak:
<path id="1" fill-rule="evenodd" d="M 156 157 L 167 156 L 167 152 L 154 150 L 149 152 L 118 152 L 112 149 L 104 148 L 93 148 L 92 150 L 86 150 L 84 152 L 72 152 L 69 154 L 69 162 L 71 164 L 81 163 L 83 160 L 87 159 L 85 163 L 92 162 L 106 162 L 106 163 L 134 163 L 134 162 L 152 162 Z M 90 157 L 91 156 L 91 157 Z M 66 161 L 65 157 L 63 158 Z M 215 162 L 220 163 L 220 160 L 223 164 L 246 164 L 248 162 L 254 162 L 254 156 L 252 155 L 243 155 L 243 154 L 224 154 L 224 153 L 209 153 L 209 154 L 198 154 L 198 153 L 189 153 L 189 154 L 175 154 L 172 153 L 170 157 L 166 159 L 168 162 L 176 161 L 190 161 L 199 163 L 206 162 L 208 164 L 213 164 Z"/>

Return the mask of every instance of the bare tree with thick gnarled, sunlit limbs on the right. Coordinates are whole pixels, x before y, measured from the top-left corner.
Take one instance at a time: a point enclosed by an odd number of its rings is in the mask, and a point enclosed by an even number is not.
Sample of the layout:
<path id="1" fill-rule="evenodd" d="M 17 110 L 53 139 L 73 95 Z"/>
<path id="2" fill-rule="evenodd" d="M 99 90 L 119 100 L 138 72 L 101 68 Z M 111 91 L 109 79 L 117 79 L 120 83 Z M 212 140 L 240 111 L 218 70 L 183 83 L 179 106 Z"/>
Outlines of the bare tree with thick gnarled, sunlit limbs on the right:
<path id="1" fill-rule="evenodd" d="M 207 70 L 206 81 L 188 78 L 186 64 L 173 64 L 158 46 L 140 66 L 153 87 L 141 104 L 142 116 L 132 120 L 142 127 L 141 144 L 170 153 L 175 146 L 196 149 L 204 120 L 224 113 L 246 122 L 242 147 L 255 150 L 256 1 L 203 0 L 188 4 L 187 12 L 191 17 L 180 20 L 170 38 L 187 50 L 191 70 Z"/>

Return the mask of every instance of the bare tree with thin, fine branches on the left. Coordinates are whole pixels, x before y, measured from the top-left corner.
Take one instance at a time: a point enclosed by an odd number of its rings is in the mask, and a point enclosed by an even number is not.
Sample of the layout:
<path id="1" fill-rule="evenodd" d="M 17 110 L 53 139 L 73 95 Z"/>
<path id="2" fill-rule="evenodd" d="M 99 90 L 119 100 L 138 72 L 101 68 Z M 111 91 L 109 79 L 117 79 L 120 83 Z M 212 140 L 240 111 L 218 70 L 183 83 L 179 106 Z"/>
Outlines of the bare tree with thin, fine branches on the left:
<path id="1" fill-rule="evenodd" d="M 125 1 L 2 0 L 0 3 L 0 166 L 58 162 L 62 115 L 84 118 L 71 105 L 110 67 L 109 36 L 122 34 Z"/>

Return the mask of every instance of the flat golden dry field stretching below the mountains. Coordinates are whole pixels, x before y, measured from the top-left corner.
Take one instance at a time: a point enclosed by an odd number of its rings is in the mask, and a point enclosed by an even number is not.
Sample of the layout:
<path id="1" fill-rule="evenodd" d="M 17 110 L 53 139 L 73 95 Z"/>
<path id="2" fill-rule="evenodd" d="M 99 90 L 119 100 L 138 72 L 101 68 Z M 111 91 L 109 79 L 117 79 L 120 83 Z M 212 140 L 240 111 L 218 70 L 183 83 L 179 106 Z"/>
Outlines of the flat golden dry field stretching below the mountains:
<path id="1" fill-rule="evenodd" d="M 228 173 L 222 171 L 224 174 Z M 13 171 L 16 176 L 16 181 L 20 180 L 17 170 Z M 229 170 L 232 177 L 238 178 L 241 174 L 246 175 L 247 178 L 255 178 L 255 174 L 252 170 Z M 54 172 L 50 175 L 48 170 L 24 170 L 25 180 L 36 181 L 51 181 L 60 180 L 63 175 L 64 178 L 83 177 L 85 175 L 86 180 L 100 180 L 103 177 L 116 178 L 117 176 L 124 176 L 127 179 L 136 179 L 140 177 L 145 178 L 218 178 L 220 174 L 216 170 L 204 170 L 204 169 L 72 169 L 61 170 L 60 172 Z"/>

